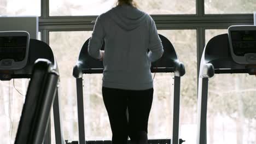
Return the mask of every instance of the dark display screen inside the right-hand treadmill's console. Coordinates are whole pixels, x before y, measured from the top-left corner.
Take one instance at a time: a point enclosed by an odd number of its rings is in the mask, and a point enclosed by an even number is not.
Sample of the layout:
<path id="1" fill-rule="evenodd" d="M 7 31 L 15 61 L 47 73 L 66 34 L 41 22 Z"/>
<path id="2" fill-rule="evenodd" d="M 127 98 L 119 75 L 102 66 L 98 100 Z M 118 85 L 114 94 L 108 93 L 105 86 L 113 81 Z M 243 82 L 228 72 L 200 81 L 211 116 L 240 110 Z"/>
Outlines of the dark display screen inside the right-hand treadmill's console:
<path id="1" fill-rule="evenodd" d="M 256 31 L 231 31 L 231 41 L 236 56 L 256 53 Z"/>

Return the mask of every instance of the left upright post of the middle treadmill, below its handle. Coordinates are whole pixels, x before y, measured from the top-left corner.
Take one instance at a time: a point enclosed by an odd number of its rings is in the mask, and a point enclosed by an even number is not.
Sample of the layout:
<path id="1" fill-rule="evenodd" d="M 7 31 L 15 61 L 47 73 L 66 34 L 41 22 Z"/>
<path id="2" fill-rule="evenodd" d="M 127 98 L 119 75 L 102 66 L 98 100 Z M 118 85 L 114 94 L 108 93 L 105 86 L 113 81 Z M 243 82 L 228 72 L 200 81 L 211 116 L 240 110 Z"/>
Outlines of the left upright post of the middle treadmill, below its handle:
<path id="1" fill-rule="evenodd" d="M 85 144 L 83 78 L 77 79 L 77 111 L 79 144 Z"/>

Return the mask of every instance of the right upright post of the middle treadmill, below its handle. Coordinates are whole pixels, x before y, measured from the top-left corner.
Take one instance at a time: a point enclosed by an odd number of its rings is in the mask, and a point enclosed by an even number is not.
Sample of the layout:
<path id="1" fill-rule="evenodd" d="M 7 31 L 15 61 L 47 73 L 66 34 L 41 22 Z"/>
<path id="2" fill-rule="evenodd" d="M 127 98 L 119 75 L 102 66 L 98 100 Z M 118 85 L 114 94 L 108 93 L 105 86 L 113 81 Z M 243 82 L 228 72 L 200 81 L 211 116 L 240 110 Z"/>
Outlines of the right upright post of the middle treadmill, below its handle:
<path id="1" fill-rule="evenodd" d="M 172 144 L 179 144 L 179 103 L 181 77 L 174 76 Z"/>

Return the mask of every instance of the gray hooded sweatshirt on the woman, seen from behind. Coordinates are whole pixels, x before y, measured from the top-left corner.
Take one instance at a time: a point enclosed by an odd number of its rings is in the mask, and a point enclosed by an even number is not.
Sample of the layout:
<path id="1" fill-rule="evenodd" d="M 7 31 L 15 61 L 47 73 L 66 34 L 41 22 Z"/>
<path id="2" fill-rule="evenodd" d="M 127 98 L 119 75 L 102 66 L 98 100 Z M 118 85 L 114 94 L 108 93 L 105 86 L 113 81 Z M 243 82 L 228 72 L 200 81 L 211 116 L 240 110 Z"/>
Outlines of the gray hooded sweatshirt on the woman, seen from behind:
<path id="1" fill-rule="evenodd" d="M 155 22 L 130 5 L 117 6 L 97 17 L 88 52 L 103 58 L 103 87 L 144 90 L 153 88 L 151 62 L 164 52 Z"/>

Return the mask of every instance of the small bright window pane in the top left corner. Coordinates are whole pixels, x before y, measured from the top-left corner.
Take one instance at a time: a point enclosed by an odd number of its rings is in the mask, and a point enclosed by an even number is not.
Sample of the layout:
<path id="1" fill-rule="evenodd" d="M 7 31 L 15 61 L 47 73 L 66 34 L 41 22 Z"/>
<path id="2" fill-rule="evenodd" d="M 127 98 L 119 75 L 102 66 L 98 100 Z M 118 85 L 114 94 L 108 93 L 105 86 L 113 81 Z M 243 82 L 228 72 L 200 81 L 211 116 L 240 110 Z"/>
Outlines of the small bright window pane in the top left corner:
<path id="1" fill-rule="evenodd" d="M 31 7 L 33 5 L 33 7 Z M 0 0 L 0 16 L 41 15 L 40 0 Z"/>

